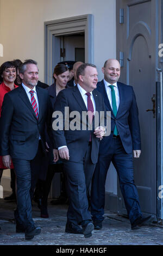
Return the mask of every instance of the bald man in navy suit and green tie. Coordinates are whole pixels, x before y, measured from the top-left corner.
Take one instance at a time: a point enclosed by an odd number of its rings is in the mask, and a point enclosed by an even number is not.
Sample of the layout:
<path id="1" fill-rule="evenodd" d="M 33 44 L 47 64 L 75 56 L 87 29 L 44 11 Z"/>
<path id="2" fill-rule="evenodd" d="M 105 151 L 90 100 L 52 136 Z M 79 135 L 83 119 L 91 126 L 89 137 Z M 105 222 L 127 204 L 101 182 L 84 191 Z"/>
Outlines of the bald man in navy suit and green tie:
<path id="1" fill-rule="evenodd" d="M 118 82 L 120 63 L 106 60 L 102 68 L 104 79 L 97 84 L 103 94 L 106 111 L 111 111 L 111 135 L 99 146 L 98 162 L 92 179 L 91 215 L 95 229 L 102 228 L 105 205 L 105 180 L 110 162 L 116 168 L 121 192 L 126 204 L 131 229 L 149 224 L 153 216 L 142 217 L 139 196 L 134 184 L 133 156 L 140 157 L 141 141 L 138 109 L 133 87 Z"/>

